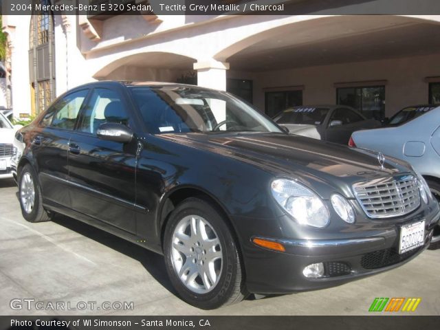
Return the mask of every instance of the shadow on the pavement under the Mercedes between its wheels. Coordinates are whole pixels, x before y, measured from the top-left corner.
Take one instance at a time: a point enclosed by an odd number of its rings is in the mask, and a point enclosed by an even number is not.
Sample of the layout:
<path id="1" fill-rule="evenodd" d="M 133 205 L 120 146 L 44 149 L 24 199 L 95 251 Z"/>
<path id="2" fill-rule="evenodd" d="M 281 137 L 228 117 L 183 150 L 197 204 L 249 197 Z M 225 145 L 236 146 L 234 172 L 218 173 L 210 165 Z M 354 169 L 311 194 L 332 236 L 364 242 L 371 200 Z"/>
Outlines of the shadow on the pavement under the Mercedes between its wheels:
<path id="1" fill-rule="evenodd" d="M 65 217 L 61 214 L 56 214 L 52 221 L 139 261 L 145 270 L 151 274 L 160 285 L 167 289 L 171 294 L 177 296 L 177 292 L 168 279 L 163 256 L 121 239 L 118 236 L 104 232 L 104 230 L 100 230 L 76 219 Z"/>

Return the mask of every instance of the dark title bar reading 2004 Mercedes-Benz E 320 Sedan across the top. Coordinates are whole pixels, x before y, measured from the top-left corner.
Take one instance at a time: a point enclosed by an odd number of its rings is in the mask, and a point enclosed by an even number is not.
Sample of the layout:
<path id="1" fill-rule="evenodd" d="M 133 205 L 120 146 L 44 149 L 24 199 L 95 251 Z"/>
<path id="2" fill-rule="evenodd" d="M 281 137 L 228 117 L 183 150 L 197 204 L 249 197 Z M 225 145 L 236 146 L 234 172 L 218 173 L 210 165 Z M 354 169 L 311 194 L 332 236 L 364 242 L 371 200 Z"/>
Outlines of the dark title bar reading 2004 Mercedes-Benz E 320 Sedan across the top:
<path id="1" fill-rule="evenodd" d="M 440 14 L 439 0 L 3 0 L 1 14 L 41 12 L 99 16 L 115 15 L 347 15 Z"/>

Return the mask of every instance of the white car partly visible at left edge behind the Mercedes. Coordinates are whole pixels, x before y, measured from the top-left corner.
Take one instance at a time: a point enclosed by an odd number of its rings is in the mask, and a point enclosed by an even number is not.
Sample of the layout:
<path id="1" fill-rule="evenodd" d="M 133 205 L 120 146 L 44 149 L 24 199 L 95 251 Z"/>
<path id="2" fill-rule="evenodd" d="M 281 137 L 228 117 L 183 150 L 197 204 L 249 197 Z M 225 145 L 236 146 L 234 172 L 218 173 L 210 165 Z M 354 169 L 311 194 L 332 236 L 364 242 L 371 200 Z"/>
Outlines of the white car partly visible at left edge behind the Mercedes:
<path id="1" fill-rule="evenodd" d="M 0 113 L 0 179 L 13 177 L 11 158 L 17 153 L 14 134 L 21 125 L 13 126 L 8 118 Z"/>

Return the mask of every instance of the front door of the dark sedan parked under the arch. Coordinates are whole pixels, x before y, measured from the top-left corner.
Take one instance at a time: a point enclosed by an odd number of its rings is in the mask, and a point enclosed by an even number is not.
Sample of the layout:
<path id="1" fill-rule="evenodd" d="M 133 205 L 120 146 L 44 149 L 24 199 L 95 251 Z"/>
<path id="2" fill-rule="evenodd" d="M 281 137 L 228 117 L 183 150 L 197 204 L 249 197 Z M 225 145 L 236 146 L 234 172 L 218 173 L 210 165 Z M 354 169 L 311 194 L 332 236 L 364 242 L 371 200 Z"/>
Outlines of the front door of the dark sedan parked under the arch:
<path id="1" fill-rule="evenodd" d="M 349 143 L 351 133 L 360 129 L 359 122 L 364 120 L 365 118 L 349 108 L 334 109 L 327 123 L 326 140 L 340 144 Z"/>

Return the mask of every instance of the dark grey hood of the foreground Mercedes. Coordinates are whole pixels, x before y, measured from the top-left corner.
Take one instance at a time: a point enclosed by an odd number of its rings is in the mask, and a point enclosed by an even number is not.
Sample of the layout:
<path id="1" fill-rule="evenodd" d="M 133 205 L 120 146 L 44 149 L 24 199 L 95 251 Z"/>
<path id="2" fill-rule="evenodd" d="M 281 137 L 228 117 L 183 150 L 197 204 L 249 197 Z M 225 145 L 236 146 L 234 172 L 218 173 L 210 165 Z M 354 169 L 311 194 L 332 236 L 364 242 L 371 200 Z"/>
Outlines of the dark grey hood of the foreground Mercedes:
<path id="1" fill-rule="evenodd" d="M 347 197 L 353 197 L 354 182 L 409 171 L 405 162 L 391 157 L 381 168 L 377 154 L 371 151 L 285 133 L 188 133 L 168 138 L 252 164 L 274 176 L 300 179 L 312 186 L 330 185 Z"/>

